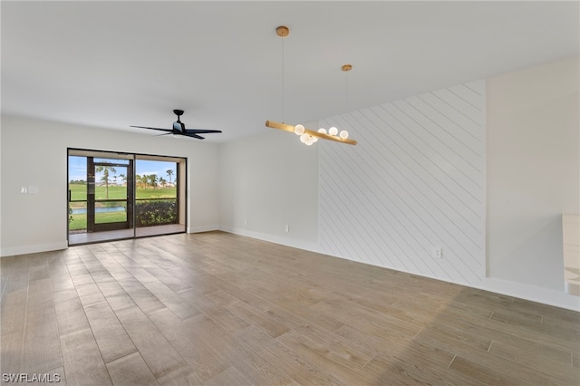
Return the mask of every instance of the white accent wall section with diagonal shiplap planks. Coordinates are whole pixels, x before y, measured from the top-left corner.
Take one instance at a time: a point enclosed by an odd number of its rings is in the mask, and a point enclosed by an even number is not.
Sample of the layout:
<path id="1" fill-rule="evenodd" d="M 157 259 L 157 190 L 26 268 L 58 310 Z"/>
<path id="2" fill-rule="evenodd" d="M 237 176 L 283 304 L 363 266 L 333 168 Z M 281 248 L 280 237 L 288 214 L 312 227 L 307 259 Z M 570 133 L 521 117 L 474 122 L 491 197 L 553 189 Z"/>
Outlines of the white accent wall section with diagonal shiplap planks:
<path id="1" fill-rule="evenodd" d="M 485 84 L 319 121 L 359 142 L 317 143 L 324 253 L 460 284 L 485 277 Z"/>

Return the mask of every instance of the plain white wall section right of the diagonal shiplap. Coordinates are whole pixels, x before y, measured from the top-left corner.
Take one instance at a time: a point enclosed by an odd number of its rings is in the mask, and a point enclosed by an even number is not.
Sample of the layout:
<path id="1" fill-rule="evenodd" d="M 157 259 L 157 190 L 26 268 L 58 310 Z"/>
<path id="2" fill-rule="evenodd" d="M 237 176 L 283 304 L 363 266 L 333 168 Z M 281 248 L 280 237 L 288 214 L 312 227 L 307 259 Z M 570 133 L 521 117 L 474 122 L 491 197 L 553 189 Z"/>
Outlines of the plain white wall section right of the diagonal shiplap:
<path id="1" fill-rule="evenodd" d="M 488 79 L 487 130 L 490 285 L 578 308 L 562 294 L 561 214 L 580 211 L 579 72 L 575 57 Z"/>

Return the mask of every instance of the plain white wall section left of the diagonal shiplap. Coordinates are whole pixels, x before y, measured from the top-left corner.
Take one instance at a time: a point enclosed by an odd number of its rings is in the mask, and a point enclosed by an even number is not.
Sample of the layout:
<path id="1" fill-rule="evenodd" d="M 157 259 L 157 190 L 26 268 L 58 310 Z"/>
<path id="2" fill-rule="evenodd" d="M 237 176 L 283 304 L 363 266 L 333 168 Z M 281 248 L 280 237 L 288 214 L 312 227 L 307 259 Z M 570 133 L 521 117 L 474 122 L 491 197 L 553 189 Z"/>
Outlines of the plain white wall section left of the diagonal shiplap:
<path id="1" fill-rule="evenodd" d="M 223 230 L 289 246 L 317 248 L 315 145 L 307 147 L 292 133 L 265 127 L 263 134 L 222 145 L 219 162 Z M 289 226 L 288 232 L 285 225 Z"/>

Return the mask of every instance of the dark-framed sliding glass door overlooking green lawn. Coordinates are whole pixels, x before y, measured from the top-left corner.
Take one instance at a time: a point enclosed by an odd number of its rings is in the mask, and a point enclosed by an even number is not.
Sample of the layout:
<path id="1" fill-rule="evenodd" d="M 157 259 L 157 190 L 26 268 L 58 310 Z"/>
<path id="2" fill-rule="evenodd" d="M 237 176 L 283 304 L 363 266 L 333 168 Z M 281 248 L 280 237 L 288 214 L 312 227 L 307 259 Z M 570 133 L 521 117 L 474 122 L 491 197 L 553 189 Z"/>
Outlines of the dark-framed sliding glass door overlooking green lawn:
<path id="1" fill-rule="evenodd" d="M 69 245 L 185 232 L 186 159 L 68 150 Z"/>

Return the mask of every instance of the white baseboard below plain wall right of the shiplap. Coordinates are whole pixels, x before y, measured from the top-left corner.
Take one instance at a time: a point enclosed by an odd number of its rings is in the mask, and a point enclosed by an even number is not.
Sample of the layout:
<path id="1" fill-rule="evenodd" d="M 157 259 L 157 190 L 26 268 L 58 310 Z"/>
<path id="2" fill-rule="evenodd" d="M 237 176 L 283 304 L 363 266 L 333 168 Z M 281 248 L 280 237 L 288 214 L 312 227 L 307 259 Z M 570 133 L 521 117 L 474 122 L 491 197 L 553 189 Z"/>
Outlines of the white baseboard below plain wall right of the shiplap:
<path id="1" fill-rule="evenodd" d="M 473 287 L 580 312 L 580 297 L 566 294 L 564 283 L 562 284 L 562 290 L 556 291 L 549 288 L 536 287 L 535 285 L 523 285 L 487 277 L 481 283 L 473 285 Z"/>

